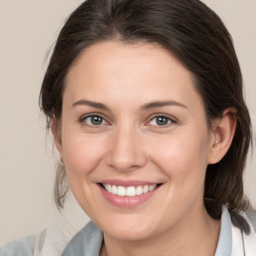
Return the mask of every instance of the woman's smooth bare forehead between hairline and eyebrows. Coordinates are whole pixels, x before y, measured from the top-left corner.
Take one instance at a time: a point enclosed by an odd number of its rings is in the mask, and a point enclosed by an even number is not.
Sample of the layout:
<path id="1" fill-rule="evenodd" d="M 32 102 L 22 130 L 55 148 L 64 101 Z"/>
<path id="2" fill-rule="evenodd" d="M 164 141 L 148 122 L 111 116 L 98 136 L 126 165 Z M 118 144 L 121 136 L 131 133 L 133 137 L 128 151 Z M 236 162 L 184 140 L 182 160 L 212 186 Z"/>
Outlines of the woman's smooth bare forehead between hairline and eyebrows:
<path id="1" fill-rule="evenodd" d="M 63 101 L 90 100 L 112 103 L 181 100 L 195 92 L 191 73 L 167 50 L 148 43 L 100 42 L 86 48 L 69 70 Z M 189 103 L 189 102 L 188 102 Z"/>

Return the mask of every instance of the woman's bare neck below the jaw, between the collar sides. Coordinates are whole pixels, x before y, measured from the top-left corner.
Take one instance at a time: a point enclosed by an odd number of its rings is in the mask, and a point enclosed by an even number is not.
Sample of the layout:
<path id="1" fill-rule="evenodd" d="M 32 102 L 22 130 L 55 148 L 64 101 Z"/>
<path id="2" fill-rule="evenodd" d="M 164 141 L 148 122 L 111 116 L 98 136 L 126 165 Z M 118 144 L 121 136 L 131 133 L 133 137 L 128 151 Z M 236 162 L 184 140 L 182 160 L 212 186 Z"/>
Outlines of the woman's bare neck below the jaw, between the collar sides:
<path id="1" fill-rule="evenodd" d="M 217 246 L 220 220 L 202 212 L 189 212 L 180 223 L 143 240 L 119 240 L 104 234 L 100 256 L 213 256 Z"/>

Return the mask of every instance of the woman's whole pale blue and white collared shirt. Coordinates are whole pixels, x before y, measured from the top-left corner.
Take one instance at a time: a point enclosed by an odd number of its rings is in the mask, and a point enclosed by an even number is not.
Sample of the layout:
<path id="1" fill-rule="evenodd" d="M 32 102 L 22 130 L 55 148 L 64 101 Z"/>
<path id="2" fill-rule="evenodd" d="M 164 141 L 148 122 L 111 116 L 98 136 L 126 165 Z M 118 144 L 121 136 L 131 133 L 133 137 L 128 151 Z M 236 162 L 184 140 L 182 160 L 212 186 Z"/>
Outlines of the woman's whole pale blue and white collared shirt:
<path id="1" fill-rule="evenodd" d="M 47 231 L 45 229 L 37 236 L 30 235 L 6 243 L 0 248 L 0 256 L 99 255 L 103 233 L 92 221 L 67 243 L 61 239 L 61 232 L 50 234 Z M 222 206 L 220 233 L 214 256 L 256 256 L 256 233 L 244 213 L 230 216 L 226 206 Z"/>

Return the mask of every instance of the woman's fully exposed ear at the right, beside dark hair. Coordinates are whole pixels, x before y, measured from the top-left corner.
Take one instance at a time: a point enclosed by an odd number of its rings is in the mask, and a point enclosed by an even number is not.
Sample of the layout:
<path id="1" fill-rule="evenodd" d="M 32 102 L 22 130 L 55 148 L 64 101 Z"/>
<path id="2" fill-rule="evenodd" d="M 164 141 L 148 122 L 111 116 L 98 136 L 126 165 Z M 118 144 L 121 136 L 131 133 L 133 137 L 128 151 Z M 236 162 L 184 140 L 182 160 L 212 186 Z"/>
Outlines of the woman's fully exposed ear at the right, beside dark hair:
<path id="1" fill-rule="evenodd" d="M 220 161 L 231 145 L 236 127 L 236 113 L 235 107 L 228 107 L 213 123 L 208 164 Z"/>

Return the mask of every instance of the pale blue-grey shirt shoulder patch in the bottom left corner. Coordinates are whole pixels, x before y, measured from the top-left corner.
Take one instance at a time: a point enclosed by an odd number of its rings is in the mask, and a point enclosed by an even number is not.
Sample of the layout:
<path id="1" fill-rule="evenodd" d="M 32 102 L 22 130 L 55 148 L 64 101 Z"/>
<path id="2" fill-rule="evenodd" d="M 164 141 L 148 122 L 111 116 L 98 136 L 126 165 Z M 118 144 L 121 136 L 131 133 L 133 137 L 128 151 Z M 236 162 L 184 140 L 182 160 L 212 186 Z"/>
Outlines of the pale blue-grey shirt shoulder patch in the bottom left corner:
<path id="1" fill-rule="evenodd" d="M 0 256 L 33 256 L 34 243 L 34 235 L 7 242 L 0 247 Z"/>

